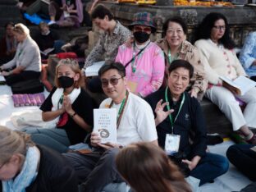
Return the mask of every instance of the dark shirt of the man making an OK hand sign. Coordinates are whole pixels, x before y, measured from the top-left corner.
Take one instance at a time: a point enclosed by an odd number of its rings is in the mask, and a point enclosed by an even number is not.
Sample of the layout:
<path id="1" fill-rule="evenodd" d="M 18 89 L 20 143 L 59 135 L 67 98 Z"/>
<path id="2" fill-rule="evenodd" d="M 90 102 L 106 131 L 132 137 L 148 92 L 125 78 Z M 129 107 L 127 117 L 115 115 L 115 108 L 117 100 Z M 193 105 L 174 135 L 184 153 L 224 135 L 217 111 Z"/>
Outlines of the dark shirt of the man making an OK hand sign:
<path id="1" fill-rule="evenodd" d="M 172 119 L 176 118 L 181 105 L 181 99 L 174 105 L 171 99 L 171 93 L 168 89 L 168 100 L 170 107 L 175 111 L 171 114 Z M 186 158 L 191 160 L 194 156 L 205 156 L 206 150 L 206 125 L 199 102 L 196 98 L 191 98 L 187 92 L 185 94 L 185 102 L 181 108 L 179 116 L 174 122 L 173 134 L 181 135 L 180 152 L 185 153 Z M 182 97 L 181 97 L 182 98 Z M 165 102 L 165 89 L 159 89 L 157 92 L 150 94 L 145 100 L 152 107 L 153 112 L 158 101 L 162 99 Z M 165 107 L 167 111 L 167 107 Z M 154 115 L 156 115 L 154 113 Z M 164 149 L 167 134 L 171 134 L 171 121 L 167 117 L 157 126 L 158 144 Z M 193 144 L 190 144 L 192 139 Z"/>

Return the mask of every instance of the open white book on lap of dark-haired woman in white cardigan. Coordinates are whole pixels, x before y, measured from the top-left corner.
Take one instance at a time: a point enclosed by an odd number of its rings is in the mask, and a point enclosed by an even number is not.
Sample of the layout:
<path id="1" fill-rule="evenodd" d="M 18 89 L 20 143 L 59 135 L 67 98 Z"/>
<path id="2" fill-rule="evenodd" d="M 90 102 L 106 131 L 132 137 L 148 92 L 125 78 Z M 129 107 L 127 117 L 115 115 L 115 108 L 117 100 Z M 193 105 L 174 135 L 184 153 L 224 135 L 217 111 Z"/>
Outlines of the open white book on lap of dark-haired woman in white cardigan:
<path id="1" fill-rule="evenodd" d="M 244 95 L 249 89 L 252 89 L 256 86 L 254 80 L 250 80 L 245 76 L 239 76 L 235 80 L 230 80 L 226 77 L 221 76 L 221 79 L 224 80 L 228 85 L 231 85 L 237 89 L 237 94 Z"/>

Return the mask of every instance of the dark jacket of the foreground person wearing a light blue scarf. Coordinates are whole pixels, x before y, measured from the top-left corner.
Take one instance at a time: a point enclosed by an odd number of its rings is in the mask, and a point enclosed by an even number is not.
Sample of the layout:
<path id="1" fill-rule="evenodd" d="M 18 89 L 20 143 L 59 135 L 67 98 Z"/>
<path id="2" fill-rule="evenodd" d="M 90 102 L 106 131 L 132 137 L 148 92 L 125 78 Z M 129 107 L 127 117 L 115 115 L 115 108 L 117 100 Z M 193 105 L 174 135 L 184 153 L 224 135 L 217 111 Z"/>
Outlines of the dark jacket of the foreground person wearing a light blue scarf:
<path id="1" fill-rule="evenodd" d="M 62 154 L 37 146 L 40 151 L 39 173 L 26 192 L 78 192 L 75 171 Z M 2 182 L 0 191 L 2 192 Z"/>

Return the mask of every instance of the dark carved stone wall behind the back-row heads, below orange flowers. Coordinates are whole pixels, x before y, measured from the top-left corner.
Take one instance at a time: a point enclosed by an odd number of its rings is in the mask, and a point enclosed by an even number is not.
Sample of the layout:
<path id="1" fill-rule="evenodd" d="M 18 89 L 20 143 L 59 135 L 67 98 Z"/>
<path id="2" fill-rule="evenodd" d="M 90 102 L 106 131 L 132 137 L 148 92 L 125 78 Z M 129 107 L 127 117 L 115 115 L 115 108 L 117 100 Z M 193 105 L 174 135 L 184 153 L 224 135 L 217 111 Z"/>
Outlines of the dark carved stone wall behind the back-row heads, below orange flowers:
<path id="1" fill-rule="evenodd" d="M 117 2 L 101 2 L 109 7 L 117 20 L 129 25 L 133 15 L 139 11 L 149 11 L 155 16 L 158 30 L 156 38 L 162 34 L 162 23 L 171 16 L 181 16 L 189 27 L 188 39 L 191 32 L 199 25 L 209 12 L 221 12 L 231 26 L 231 36 L 238 47 L 244 43 L 245 36 L 256 30 L 256 7 L 172 7 L 172 6 L 138 6 L 135 4 L 118 4 Z"/>

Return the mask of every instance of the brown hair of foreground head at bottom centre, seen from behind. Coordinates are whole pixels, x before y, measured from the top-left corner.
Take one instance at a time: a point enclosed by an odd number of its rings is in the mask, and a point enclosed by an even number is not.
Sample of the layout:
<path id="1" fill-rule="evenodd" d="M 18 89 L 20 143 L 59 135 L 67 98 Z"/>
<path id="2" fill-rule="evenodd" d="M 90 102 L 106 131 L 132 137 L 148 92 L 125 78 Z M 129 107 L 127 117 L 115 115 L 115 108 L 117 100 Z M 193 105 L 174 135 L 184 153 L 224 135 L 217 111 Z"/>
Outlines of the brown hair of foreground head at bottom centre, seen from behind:
<path id="1" fill-rule="evenodd" d="M 117 154 L 117 170 L 136 192 L 191 192 L 167 154 L 155 144 L 130 144 Z"/>

